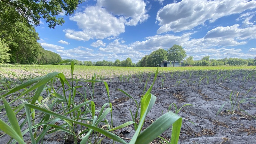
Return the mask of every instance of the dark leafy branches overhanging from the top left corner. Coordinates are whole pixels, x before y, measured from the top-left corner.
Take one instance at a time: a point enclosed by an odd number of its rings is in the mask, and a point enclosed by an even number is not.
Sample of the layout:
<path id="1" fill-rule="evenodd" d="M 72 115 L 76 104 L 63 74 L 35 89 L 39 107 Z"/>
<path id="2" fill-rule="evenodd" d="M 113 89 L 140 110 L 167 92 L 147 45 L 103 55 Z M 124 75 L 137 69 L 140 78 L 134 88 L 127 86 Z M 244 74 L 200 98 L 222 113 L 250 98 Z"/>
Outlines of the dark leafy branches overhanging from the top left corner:
<path id="1" fill-rule="evenodd" d="M 27 24 L 39 25 L 40 19 L 49 23 L 49 28 L 62 25 L 63 18 L 56 18 L 63 11 L 71 15 L 78 4 L 84 0 L 0 0 L 0 12 L 8 11 L 1 15 L 0 21 L 5 23 L 26 22 Z M 4 17 L 2 17 L 4 16 Z"/>

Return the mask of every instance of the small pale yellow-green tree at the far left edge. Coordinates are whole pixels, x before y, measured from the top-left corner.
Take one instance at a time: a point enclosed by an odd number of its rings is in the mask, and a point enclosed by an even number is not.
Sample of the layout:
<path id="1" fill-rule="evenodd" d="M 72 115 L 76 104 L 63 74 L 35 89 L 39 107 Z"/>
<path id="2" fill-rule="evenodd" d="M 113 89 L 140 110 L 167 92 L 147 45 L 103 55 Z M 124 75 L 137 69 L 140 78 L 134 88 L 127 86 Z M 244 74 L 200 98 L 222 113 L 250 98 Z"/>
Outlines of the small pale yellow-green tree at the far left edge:
<path id="1" fill-rule="evenodd" d="M 8 51 L 11 49 L 0 38 L 0 62 L 10 62 L 10 55 Z"/>

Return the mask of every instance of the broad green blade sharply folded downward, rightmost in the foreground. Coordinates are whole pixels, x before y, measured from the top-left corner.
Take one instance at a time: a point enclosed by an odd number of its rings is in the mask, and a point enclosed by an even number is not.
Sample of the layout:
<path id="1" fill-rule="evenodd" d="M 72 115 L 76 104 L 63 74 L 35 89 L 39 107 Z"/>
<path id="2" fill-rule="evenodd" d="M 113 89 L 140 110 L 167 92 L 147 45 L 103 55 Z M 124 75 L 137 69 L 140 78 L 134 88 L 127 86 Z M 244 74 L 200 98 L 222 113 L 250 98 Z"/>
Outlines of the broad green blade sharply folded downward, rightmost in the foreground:
<path id="1" fill-rule="evenodd" d="M 171 143 L 178 143 L 182 118 L 173 112 L 167 112 L 138 136 L 135 144 L 150 143 L 172 125 Z"/>

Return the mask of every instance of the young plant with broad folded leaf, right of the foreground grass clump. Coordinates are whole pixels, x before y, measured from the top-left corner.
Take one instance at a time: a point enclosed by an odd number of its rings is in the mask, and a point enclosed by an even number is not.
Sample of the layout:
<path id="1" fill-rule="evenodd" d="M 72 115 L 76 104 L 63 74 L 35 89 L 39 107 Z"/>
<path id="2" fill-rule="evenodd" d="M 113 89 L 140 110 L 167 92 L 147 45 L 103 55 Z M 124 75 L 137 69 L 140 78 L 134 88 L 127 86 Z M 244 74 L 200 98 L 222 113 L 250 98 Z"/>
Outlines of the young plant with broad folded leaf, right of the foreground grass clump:
<path id="1" fill-rule="evenodd" d="M 164 132 L 166 129 L 168 129 L 171 125 L 172 125 L 171 143 L 178 143 L 182 118 L 179 117 L 177 114 L 174 114 L 173 112 L 165 113 L 164 115 L 159 117 L 154 123 L 152 123 L 148 128 L 146 128 L 144 131 L 140 132 L 148 112 L 153 107 L 153 105 L 156 101 L 156 96 L 152 95 L 150 92 L 151 92 L 153 84 L 156 80 L 157 72 L 158 72 L 158 68 L 156 70 L 156 74 L 155 74 L 154 81 L 153 81 L 152 85 L 150 86 L 148 91 L 145 93 L 145 95 L 143 95 L 141 97 L 141 100 L 140 100 L 141 109 L 140 109 L 139 124 L 134 122 L 136 119 L 134 119 L 134 117 L 132 115 L 134 127 L 136 127 L 136 129 L 135 129 L 135 134 L 133 135 L 132 140 L 130 141 L 129 144 L 149 143 L 152 140 L 154 140 L 157 136 L 159 136 L 162 132 Z M 120 91 L 123 92 L 124 94 L 126 94 L 132 100 L 134 100 L 137 108 L 139 108 L 138 102 L 134 98 L 132 98 L 131 95 L 129 95 L 128 93 L 126 93 L 122 90 L 120 90 Z M 131 112 L 131 110 L 130 110 L 130 112 Z M 131 114 L 132 114 L 132 112 L 131 112 Z"/>

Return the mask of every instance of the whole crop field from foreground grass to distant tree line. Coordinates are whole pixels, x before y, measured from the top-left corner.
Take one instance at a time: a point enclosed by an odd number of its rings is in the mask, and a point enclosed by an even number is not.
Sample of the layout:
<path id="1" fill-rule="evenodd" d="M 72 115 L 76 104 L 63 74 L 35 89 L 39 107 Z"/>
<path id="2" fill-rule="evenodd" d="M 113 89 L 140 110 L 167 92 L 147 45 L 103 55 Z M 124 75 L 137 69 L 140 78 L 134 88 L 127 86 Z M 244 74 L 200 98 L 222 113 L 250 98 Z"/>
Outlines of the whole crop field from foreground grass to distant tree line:
<path id="1" fill-rule="evenodd" d="M 1 129 L 25 143 L 255 143 L 254 67 L 156 70 L 2 65 Z"/>

